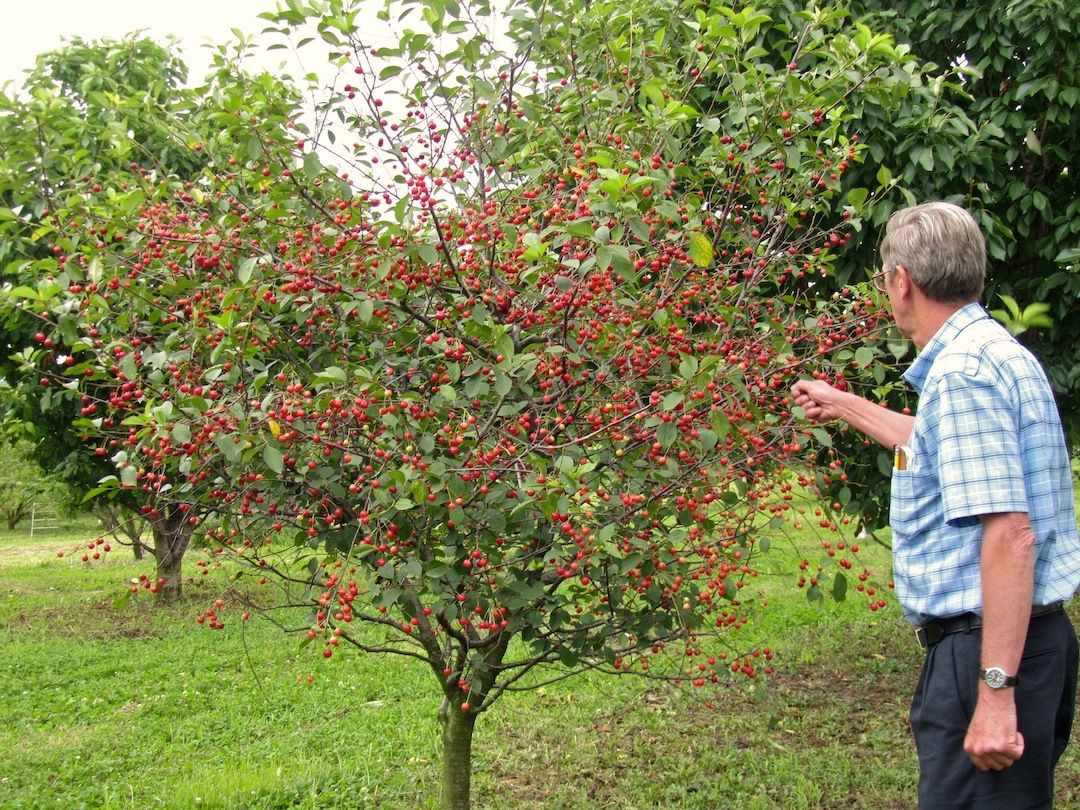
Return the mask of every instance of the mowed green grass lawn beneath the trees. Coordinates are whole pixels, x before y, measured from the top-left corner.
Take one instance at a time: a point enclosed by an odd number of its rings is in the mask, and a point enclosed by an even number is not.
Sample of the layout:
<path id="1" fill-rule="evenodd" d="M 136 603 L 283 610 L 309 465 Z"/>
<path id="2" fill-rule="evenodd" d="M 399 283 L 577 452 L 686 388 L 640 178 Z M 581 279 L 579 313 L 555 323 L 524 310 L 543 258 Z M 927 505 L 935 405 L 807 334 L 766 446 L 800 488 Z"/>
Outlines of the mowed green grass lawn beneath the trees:
<path id="1" fill-rule="evenodd" d="M 440 693 L 421 664 L 328 661 L 227 605 L 189 554 L 184 604 L 124 603 L 150 573 L 129 550 L 85 566 L 64 535 L 0 534 L 0 808 L 434 808 Z M 794 543 L 794 544 L 793 544 Z M 888 578 L 888 552 L 862 557 Z M 744 597 L 777 673 L 718 694 L 580 676 L 510 696 L 477 723 L 474 806 L 915 807 L 907 704 L 921 652 L 899 608 L 810 604 L 794 585 L 812 536 L 775 543 Z M 1074 611 L 1076 616 L 1076 612 Z M 309 678 L 309 676 L 311 676 Z M 1080 737 L 1058 769 L 1080 806 Z"/>

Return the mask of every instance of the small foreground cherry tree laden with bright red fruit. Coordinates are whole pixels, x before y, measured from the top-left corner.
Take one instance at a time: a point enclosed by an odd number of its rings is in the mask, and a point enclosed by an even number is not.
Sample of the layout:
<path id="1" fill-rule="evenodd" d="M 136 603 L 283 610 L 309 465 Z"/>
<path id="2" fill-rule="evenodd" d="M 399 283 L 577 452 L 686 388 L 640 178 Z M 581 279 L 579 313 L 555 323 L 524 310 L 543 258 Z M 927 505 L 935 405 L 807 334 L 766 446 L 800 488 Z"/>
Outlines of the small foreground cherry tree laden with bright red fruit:
<path id="1" fill-rule="evenodd" d="M 908 57 L 827 10 L 387 13 L 392 48 L 349 3 L 265 15 L 330 48 L 320 125 L 234 75 L 201 174 L 57 191 L 8 297 L 39 322 L 24 393 L 112 468 L 95 495 L 205 542 L 248 610 L 305 608 L 314 654 L 430 669 L 459 808 L 508 692 L 768 673 L 731 630 L 810 456 L 788 390 L 863 377 L 887 325 L 866 285 L 816 292 L 859 227 L 846 99 L 901 92 Z M 841 460 L 801 482 L 846 489 Z M 814 518 L 839 596 L 843 509 Z"/>

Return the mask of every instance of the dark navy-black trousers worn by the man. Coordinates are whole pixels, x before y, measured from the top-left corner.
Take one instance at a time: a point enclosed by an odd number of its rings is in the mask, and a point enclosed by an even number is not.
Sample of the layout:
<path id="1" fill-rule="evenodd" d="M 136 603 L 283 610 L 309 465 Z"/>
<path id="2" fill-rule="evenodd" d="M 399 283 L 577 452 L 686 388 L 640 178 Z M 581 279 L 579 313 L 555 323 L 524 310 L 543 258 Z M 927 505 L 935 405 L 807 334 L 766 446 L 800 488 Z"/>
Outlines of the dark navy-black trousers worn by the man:
<path id="1" fill-rule="evenodd" d="M 982 630 L 945 636 L 927 651 L 912 701 L 921 810 L 1053 807 L 1054 766 L 1069 741 L 1077 694 L 1077 636 L 1065 613 L 1031 620 L 1016 687 L 1024 755 L 981 771 L 963 751 L 975 711 Z"/>

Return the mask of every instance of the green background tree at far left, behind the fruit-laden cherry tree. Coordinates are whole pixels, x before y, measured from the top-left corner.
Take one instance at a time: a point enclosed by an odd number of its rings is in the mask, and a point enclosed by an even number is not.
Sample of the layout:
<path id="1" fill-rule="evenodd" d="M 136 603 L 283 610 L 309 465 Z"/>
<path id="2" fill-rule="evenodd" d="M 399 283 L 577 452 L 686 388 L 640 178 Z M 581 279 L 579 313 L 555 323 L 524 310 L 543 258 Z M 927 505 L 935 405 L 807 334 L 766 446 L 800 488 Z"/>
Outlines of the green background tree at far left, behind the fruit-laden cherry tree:
<path id="1" fill-rule="evenodd" d="M 243 48 L 221 49 L 206 83 L 186 89 L 187 68 L 168 48 L 132 36 L 121 41 L 76 39 L 38 58 L 29 78 L 11 94 L 0 94 L 0 257 L 12 306 L 0 311 L 3 326 L 0 389 L 4 432 L 33 447 L 36 459 L 66 485 L 83 495 L 114 472 L 108 459 L 96 455 L 76 426 L 87 416 L 87 403 L 58 388 L 57 373 L 76 364 L 73 312 L 55 321 L 55 330 L 42 332 L 51 297 L 67 283 L 67 255 L 80 240 L 103 246 L 113 240 L 103 225 L 87 230 L 85 220 L 62 219 L 72 200 L 98 198 L 98 207 L 111 217 L 132 215 L 156 185 L 171 178 L 190 181 L 218 160 L 219 147 L 231 154 L 248 143 L 246 130 L 237 132 L 237 94 L 258 109 L 260 89 L 287 92 L 270 77 L 251 80 L 240 68 Z M 228 90 L 222 92 L 221 85 Z M 227 112 L 222 112 L 227 110 Z M 249 126 L 249 122 L 245 124 Z M 226 165 L 226 164 L 221 164 Z M 96 216 L 96 215 L 95 215 Z M 98 273 L 85 268 L 82 281 L 94 286 Z M 94 380 L 86 393 L 107 400 L 117 389 L 108 376 Z M 90 405 L 91 410 L 96 408 Z M 183 559 L 193 526 L 187 508 L 173 503 L 167 492 L 152 496 L 136 490 L 108 494 L 108 510 L 138 515 L 150 527 L 157 578 L 147 585 L 163 599 L 181 594 Z"/>

